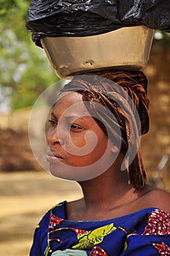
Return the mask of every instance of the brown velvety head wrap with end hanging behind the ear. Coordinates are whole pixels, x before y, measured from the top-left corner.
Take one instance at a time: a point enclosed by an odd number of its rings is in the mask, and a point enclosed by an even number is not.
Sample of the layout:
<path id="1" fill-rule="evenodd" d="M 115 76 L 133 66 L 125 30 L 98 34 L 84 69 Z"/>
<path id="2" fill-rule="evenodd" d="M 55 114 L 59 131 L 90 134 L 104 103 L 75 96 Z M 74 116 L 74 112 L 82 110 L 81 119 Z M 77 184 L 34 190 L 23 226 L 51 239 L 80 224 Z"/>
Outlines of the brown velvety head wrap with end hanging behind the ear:
<path id="1" fill-rule="evenodd" d="M 74 76 L 71 82 L 63 87 L 61 92 L 63 91 L 77 91 L 82 94 L 86 108 L 95 116 L 104 133 L 108 136 L 109 132 L 109 138 L 115 143 L 121 141 L 120 151 L 124 154 L 128 152 L 128 159 L 131 159 L 128 164 L 131 185 L 143 187 L 146 173 L 138 138 L 149 129 L 149 99 L 144 73 L 112 70 L 89 72 Z M 109 109 L 109 112 L 104 111 L 104 108 L 100 110 L 94 102 Z M 120 134 L 117 128 L 120 129 Z"/>

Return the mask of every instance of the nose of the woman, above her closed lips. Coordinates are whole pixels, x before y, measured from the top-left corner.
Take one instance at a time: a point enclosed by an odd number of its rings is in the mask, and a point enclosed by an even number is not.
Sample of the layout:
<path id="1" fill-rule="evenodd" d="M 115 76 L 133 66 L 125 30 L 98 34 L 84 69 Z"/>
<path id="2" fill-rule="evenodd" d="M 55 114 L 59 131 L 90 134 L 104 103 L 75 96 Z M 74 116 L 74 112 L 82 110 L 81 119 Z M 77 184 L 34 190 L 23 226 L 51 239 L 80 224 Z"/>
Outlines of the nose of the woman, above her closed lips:
<path id="1" fill-rule="evenodd" d="M 55 127 L 55 129 L 50 128 L 47 131 L 47 144 L 53 145 L 53 144 L 60 144 L 63 145 L 63 136 L 61 135 L 61 131 Z"/>

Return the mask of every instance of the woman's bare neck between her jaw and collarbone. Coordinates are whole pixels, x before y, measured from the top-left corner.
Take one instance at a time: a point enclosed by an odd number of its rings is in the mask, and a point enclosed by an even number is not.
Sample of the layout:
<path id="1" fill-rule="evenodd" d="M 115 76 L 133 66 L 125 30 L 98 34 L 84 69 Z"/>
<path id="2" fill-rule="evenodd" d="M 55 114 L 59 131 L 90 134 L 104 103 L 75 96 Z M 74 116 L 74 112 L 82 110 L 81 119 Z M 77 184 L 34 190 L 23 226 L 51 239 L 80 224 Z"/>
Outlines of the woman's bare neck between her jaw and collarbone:
<path id="1" fill-rule="evenodd" d="M 115 177 L 107 173 L 100 177 L 93 178 L 90 181 L 80 182 L 84 195 L 85 208 L 109 208 L 123 200 L 126 193 L 131 190 L 128 185 L 128 173 L 119 170 L 119 174 Z M 112 202 L 112 204 L 111 204 Z"/>

